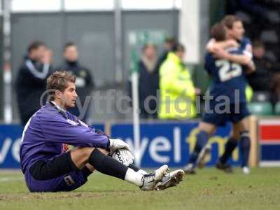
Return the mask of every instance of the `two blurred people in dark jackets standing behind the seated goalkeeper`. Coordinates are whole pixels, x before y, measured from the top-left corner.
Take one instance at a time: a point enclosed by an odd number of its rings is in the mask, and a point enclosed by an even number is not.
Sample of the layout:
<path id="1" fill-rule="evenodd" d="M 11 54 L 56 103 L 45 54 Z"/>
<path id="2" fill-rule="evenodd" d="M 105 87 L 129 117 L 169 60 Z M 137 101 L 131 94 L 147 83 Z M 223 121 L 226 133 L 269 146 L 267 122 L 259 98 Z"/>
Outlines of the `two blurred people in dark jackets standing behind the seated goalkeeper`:
<path id="1" fill-rule="evenodd" d="M 85 66 L 78 62 L 78 48 L 75 43 L 66 43 L 63 49 L 64 60 L 59 66 L 52 66 L 52 50 L 42 41 L 34 41 L 27 48 L 27 55 L 23 58 L 18 76 L 15 81 L 15 90 L 18 99 L 18 109 L 22 124 L 44 104 L 47 94 L 44 94 L 48 76 L 57 70 L 71 71 L 76 75 L 76 90 L 79 94 L 77 103 L 84 104 L 87 95 L 94 88 L 92 75 Z M 69 110 L 80 116 L 78 106 Z M 86 111 L 82 120 L 89 117 Z"/>

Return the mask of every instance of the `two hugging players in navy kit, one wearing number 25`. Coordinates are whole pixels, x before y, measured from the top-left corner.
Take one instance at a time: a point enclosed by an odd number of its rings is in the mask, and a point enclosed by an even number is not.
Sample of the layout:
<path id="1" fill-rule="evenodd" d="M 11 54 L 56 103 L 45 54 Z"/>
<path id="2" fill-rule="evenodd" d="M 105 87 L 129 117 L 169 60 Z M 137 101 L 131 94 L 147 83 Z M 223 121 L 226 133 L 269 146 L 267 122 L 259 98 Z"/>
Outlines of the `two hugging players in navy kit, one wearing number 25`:
<path id="1" fill-rule="evenodd" d="M 239 18 L 230 15 L 226 16 L 222 23 L 214 25 L 211 30 L 214 39 L 207 45 L 205 57 L 205 68 L 213 76 L 213 83 L 210 89 L 211 100 L 206 108 L 202 122 L 199 125 L 197 142 L 193 153 L 190 155 L 185 172 L 195 173 L 196 165 L 203 165 L 209 148 L 206 146 L 208 138 L 216 130 L 216 127 L 225 125 L 230 120 L 232 133 L 225 145 L 225 153 L 219 158 L 216 167 L 225 172 L 232 172 L 232 168 L 227 164 L 230 155 L 237 146 L 237 141 L 241 142 L 242 166 L 245 173 L 248 172 L 248 154 L 250 149 L 250 139 L 248 137 L 246 107 L 246 73 L 255 70 L 251 60 L 250 43 L 243 38 L 244 28 Z M 231 41 L 225 41 L 228 37 Z M 237 48 L 238 40 L 240 45 Z M 223 48 L 228 48 L 228 52 Z"/>

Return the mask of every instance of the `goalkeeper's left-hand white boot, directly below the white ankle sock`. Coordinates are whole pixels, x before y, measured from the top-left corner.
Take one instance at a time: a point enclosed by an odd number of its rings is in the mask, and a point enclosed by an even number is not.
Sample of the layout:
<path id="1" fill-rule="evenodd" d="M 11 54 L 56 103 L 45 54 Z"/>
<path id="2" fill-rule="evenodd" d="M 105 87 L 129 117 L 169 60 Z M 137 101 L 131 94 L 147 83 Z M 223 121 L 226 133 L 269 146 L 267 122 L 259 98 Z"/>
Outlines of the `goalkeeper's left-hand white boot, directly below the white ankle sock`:
<path id="1" fill-rule="evenodd" d="M 163 176 L 167 174 L 168 166 L 163 165 L 159 169 L 156 169 L 155 172 L 151 172 L 150 174 L 144 174 L 142 176 L 142 186 L 140 186 L 141 190 L 154 190 L 155 186 L 159 181 L 162 180 Z"/>

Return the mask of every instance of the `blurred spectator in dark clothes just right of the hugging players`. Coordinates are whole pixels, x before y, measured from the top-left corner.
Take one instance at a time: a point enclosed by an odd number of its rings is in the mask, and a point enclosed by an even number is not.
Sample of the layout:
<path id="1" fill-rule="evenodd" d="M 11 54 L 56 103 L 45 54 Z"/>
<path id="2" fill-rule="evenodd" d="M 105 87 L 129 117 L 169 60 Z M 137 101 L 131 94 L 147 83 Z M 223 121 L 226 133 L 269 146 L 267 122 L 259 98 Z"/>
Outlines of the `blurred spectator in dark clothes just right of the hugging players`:
<path id="1" fill-rule="evenodd" d="M 255 72 L 247 76 L 248 83 L 254 91 L 269 91 L 272 77 L 272 62 L 265 56 L 265 45 L 260 41 L 253 43 L 253 61 Z"/>

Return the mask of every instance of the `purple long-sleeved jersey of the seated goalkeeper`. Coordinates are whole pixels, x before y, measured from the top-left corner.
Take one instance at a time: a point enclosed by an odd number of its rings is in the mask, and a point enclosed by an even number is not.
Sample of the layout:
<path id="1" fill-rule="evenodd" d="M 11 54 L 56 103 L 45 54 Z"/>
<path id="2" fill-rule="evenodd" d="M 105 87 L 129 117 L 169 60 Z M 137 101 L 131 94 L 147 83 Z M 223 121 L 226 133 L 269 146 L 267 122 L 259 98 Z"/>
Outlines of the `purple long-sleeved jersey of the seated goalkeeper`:
<path id="1" fill-rule="evenodd" d="M 97 134 L 68 111 L 47 103 L 29 119 L 22 134 L 20 165 L 27 167 L 38 160 L 48 160 L 63 153 L 62 144 L 108 148 L 109 139 Z"/>

